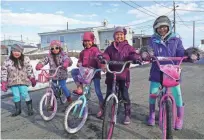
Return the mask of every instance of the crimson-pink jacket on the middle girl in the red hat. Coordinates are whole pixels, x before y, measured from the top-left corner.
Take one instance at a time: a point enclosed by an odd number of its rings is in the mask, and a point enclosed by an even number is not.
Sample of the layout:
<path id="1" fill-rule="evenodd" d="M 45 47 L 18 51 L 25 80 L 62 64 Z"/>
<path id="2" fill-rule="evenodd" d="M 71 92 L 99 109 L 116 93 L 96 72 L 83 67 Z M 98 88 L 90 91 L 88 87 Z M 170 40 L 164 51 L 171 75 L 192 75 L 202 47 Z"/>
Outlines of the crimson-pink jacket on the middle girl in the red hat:
<path id="1" fill-rule="evenodd" d="M 97 55 L 100 54 L 100 50 L 97 46 L 93 46 L 89 49 L 84 49 L 79 54 L 78 63 L 82 63 L 83 67 L 91 67 L 95 69 L 100 69 L 102 65 L 97 59 Z M 101 73 L 97 72 L 94 78 L 101 78 Z"/>

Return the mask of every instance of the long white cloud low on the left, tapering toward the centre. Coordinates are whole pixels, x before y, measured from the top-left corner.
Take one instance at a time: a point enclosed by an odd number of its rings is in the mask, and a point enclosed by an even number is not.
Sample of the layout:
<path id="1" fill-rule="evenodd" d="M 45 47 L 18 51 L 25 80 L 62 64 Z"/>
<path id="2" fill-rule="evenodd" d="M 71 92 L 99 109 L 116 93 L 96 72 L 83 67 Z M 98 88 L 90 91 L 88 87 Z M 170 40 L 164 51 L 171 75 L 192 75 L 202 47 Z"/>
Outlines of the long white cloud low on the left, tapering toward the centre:
<path id="1" fill-rule="evenodd" d="M 20 26 L 55 26 L 69 24 L 86 24 L 100 25 L 96 21 L 82 21 L 78 19 L 68 18 L 57 14 L 47 13 L 13 13 L 10 10 L 2 9 L 1 12 L 2 25 L 20 25 Z M 37 20 L 36 20 L 37 19 Z"/>

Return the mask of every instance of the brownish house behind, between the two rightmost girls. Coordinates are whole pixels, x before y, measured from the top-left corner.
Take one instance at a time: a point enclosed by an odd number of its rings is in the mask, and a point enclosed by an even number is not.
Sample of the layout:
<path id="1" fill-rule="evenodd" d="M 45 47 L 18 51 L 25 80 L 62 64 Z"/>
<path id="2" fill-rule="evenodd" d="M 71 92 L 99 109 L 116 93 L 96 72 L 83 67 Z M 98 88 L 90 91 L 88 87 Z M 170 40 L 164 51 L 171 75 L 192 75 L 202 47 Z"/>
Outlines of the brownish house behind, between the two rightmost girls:
<path id="1" fill-rule="evenodd" d="M 134 34 L 133 35 L 133 47 L 141 48 L 148 45 L 148 40 L 151 35 Z"/>

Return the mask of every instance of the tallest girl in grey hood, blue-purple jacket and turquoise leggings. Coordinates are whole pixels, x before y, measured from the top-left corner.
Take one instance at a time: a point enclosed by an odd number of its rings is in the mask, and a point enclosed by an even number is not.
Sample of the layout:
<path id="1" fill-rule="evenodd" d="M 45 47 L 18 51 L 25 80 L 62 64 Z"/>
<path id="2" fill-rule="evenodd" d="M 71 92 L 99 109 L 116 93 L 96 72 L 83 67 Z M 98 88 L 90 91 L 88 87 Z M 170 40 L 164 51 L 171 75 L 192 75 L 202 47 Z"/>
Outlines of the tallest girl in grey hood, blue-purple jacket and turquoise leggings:
<path id="1" fill-rule="evenodd" d="M 153 25 L 154 35 L 152 35 L 149 45 L 153 50 L 154 56 L 162 57 L 183 57 L 185 50 L 180 38 L 172 33 L 171 21 L 167 16 L 158 17 Z M 149 49 L 150 50 L 150 49 Z M 196 58 L 197 59 L 197 58 Z M 168 64 L 172 62 L 161 62 Z M 160 87 L 160 70 L 156 62 L 152 64 L 150 70 L 150 94 L 157 94 Z M 184 106 L 181 95 L 180 85 L 172 87 L 172 93 L 177 106 L 176 129 L 182 129 Z M 149 98 L 149 118 L 148 125 L 155 125 L 155 99 Z"/>

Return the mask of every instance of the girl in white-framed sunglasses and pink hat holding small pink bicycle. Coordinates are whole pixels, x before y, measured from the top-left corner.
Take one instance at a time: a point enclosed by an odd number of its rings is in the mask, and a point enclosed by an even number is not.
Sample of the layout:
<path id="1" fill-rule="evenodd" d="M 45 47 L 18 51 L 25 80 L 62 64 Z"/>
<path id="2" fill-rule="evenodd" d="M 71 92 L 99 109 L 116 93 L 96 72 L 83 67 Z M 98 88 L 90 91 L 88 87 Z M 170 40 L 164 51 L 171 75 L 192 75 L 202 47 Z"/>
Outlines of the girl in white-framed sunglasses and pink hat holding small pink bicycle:
<path id="1" fill-rule="evenodd" d="M 40 70 L 43 66 L 49 63 L 50 69 L 56 69 L 58 66 L 62 66 L 56 77 L 53 78 L 54 83 L 59 83 L 62 88 L 63 93 L 67 97 L 67 102 L 70 103 L 71 94 L 66 86 L 66 79 L 68 78 L 67 68 L 72 65 L 72 60 L 67 56 L 63 51 L 61 42 L 58 40 L 53 40 L 50 43 L 50 53 L 36 65 L 36 70 Z M 55 71 L 50 71 L 50 74 L 53 75 Z"/>

